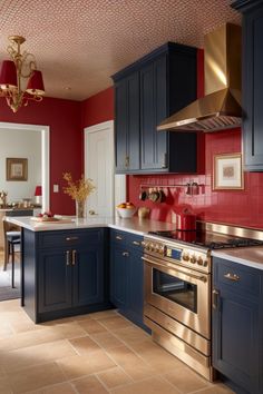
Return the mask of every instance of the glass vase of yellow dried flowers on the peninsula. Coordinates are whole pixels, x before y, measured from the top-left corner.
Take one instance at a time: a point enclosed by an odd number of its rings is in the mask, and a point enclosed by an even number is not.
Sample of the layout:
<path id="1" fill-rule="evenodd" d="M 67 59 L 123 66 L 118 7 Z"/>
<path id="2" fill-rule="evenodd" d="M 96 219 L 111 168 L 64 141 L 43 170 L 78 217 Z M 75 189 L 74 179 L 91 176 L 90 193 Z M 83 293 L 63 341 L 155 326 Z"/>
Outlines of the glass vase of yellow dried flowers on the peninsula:
<path id="1" fill-rule="evenodd" d="M 70 173 L 64 174 L 64 179 L 67 180 L 68 185 L 64 187 L 64 193 L 69 195 L 76 201 L 76 217 L 85 218 L 87 208 L 87 198 L 92 193 L 96 187 L 92 179 L 85 179 L 84 175 L 77 181 L 74 181 Z"/>

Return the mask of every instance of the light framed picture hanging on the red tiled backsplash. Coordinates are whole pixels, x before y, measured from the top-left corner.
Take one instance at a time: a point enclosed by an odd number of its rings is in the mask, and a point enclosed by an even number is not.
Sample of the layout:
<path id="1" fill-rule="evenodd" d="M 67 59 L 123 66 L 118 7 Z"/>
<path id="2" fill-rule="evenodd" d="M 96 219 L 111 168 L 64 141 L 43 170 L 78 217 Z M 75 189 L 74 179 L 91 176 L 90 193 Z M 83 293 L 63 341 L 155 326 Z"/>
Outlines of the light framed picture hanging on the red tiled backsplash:
<path id="1" fill-rule="evenodd" d="M 213 165 L 213 190 L 241 189 L 244 189 L 242 155 L 215 155 Z"/>

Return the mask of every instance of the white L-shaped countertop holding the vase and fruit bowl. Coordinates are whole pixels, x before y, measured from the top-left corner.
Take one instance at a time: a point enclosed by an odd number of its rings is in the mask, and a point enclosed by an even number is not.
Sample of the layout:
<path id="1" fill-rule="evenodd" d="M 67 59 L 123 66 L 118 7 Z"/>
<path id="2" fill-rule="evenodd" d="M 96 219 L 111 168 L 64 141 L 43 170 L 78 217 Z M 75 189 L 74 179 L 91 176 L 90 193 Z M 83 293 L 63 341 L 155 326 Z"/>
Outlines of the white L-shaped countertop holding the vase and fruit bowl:
<path id="1" fill-rule="evenodd" d="M 76 217 L 62 217 L 58 221 L 33 221 L 29 216 L 10 216 L 7 217 L 9 223 L 13 223 L 20 227 L 27 228 L 31 232 L 50 232 L 50 230 L 66 230 L 80 229 L 92 227 L 110 227 L 124 232 L 144 235 L 148 232 L 171 230 L 175 225 L 165 221 L 139 219 L 133 217 L 130 219 L 120 219 L 113 217 L 92 217 L 87 219 L 76 219 Z"/>

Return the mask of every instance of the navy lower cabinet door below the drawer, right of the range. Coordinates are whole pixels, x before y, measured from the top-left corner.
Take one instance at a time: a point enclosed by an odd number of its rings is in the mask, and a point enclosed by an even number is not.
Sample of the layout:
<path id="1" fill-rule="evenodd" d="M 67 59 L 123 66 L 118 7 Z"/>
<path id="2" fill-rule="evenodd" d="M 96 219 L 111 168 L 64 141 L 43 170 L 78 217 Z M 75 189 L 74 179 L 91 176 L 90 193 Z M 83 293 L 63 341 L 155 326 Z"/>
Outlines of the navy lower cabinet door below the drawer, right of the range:
<path id="1" fill-rule="evenodd" d="M 214 367 L 249 393 L 260 393 L 259 305 L 221 289 L 213 325 Z"/>

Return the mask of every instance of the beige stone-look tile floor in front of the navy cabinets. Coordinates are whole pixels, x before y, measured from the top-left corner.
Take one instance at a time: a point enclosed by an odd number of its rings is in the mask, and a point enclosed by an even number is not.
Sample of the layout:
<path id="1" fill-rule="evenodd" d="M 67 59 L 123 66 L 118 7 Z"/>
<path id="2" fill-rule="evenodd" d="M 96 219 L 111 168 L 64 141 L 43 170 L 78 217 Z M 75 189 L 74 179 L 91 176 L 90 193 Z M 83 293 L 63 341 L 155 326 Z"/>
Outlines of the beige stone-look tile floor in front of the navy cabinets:
<path id="1" fill-rule="evenodd" d="M 230 394 L 115 311 L 35 325 L 0 303 L 0 394 Z"/>

